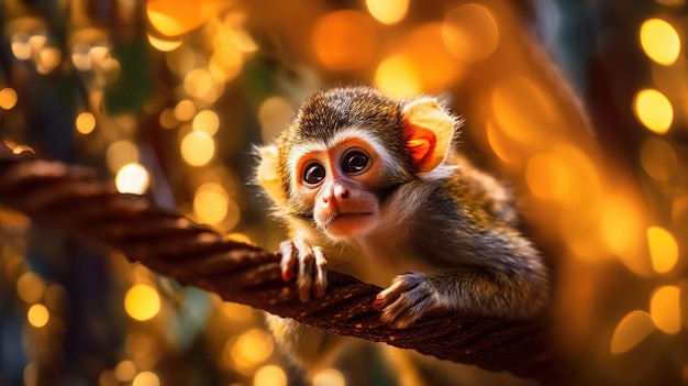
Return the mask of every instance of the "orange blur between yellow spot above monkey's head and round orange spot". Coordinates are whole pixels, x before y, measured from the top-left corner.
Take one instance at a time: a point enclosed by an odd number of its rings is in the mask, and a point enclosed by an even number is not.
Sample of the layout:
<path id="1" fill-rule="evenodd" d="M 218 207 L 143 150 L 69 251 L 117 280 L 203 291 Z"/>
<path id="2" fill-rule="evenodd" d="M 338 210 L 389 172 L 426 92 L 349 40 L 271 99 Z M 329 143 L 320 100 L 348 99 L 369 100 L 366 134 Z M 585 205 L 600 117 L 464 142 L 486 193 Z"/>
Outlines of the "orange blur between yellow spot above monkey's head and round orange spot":
<path id="1" fill-rule="evenodd" d="M 442 24 L 429 23 L 413 30 L 407 37 L 403 53 L 413 64 L 423 91 L 446 89 L 464 73 L 442 41 Z"/>

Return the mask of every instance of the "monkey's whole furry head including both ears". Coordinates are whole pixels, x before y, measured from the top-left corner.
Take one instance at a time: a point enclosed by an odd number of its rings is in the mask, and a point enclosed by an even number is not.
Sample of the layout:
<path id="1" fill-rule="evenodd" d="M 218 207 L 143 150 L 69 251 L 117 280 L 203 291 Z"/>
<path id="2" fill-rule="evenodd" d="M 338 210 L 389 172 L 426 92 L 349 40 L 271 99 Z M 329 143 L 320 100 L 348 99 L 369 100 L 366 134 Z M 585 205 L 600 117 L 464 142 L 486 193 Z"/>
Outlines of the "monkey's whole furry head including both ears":
<path id="1" fill-rule="evenodd" d="M 276 144 L 260 148 L 257 179 L 282 214 L 333 240 L 356 238 L 378 225 L 399 186 L 433 178 L 455 129 L 434 99 L 331 89 L 306 100 Z"/>

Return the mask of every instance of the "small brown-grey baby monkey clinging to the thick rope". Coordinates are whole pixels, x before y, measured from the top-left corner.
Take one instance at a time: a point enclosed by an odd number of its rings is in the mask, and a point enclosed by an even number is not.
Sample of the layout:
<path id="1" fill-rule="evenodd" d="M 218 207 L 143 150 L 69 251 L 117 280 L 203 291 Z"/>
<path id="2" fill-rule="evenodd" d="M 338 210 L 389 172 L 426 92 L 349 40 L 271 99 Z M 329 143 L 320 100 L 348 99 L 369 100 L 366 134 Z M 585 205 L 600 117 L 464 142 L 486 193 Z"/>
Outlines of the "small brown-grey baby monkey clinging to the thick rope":
<path id="1" fill-rule="evenodd" d="M 326 269 L 336 269 L 385 288 L 370 307 L 396 329 L 436 310 L 511 319 L 543 311 L 543 260 L 515 228 L 509 189 L 456 151 L 462 124 L 434 98 L 331 88 L 258 147 L 256 179 L 289 231 L 281 276 L 296 282 L 300 301 L 322 297 Z M 268 318 L 307 370 L 346 340 Z"/>

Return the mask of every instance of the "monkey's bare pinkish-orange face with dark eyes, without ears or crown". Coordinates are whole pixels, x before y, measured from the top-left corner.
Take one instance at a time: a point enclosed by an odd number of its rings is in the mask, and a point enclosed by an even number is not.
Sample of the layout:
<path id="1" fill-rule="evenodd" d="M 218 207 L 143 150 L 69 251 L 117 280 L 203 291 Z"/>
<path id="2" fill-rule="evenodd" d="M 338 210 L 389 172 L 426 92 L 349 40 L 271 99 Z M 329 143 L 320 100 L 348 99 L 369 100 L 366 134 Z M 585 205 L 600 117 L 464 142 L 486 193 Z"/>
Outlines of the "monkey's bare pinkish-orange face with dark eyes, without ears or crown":
<path id="1" fill-rule="evenodd" d="M 293 191 L 310 203 L 315 224 L 332 239 L 356 238 L 378 222 L 385 164 L 384 150 L 376 147 L 358 135 L 295 150 L 301 156 L 293 168 Z"/>

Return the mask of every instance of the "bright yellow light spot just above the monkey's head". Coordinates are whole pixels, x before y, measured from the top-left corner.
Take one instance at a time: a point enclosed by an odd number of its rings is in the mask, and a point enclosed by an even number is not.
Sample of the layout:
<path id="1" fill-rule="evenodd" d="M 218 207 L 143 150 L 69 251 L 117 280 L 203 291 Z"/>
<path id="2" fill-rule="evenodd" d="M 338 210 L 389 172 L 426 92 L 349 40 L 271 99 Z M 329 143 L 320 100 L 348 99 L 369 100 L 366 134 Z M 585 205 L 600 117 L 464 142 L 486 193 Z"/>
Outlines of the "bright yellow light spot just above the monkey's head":
<path id="1" fill-rule="evenodd" d="M 421 92 L 421 80 L 411 60 L 401 54 L 392 55 L 377 67 L 375 86 L 397 97 L 412 97 Z"/>

